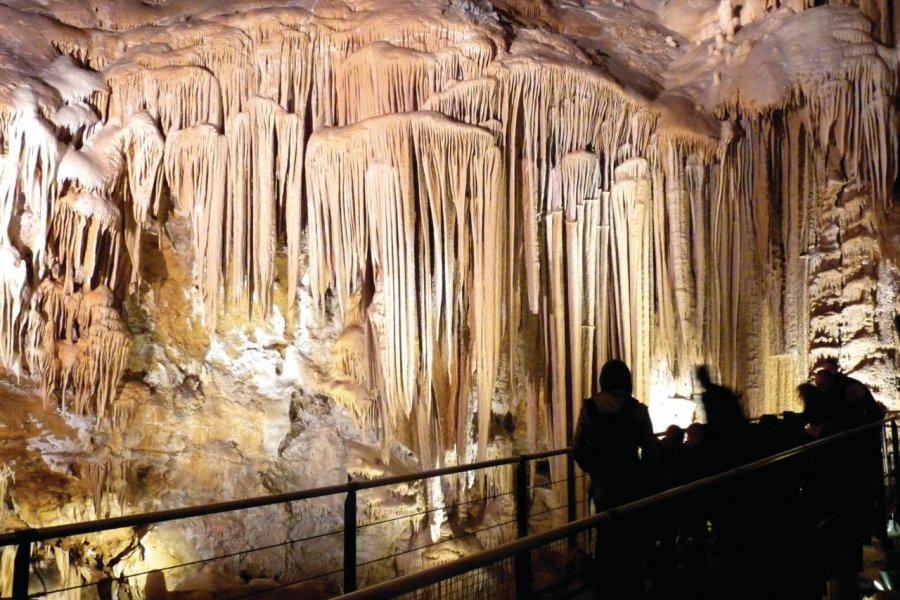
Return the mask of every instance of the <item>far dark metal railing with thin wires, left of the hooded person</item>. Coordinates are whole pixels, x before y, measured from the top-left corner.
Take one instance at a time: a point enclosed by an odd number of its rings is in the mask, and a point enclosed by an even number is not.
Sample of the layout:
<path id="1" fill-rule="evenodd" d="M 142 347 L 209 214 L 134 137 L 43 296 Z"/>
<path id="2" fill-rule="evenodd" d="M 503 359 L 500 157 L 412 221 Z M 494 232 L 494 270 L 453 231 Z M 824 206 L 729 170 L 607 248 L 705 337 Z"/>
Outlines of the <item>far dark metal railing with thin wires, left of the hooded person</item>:
<path id="1" fill-rule="evenodd" d="M 562 460 L 566 465 L 566 476 L 564 479 L 553 481 L 548 478 L 546 481 L 535 480 L 531 478 L 529 481 L 529 473 L 536 470 L 538 464 L 548 460 Z M 510 488 L 509 491 L 496 491 L 492 494 L 484 496 L 476 496 L 463 502 L 452 503 L 446 506 L 428 506 L 425 510 L 402 514 L 400 516 L 392 515 L 385 519 L 375 519 L 369 522 L 360 522 L 360 495 L 365 494 L 368 490 L 376 490 L 377 488 L 391 488 L 394 486 L 402 486 L 416 482 L 425 482 L 433 478 L 441 478 L 446 476 L 459 476 L 460 474 L 473 473 L 475 477 L 484 477 L 490 471 L 504 469 L 506 472 L 495 475 L 494 479 L 504 481 L 512 481 L 513 485 L 500 486 L 501 488 Z M 407 475 L 397 475 L 382 477 L 372 480 L 348 481 L 341 485 L 333 485 L 321 487 L 311 490 L 303 490 L 298 492 L 290 492 L 283 494 L 275 494 L 245 500 L 236 500 L 229 502 L 221 502 L 204 506 L 179 508 L 173 510 L 164 510 L 152 513 L 129 515 L 115 518 L 102 519 L 85 523 L 74 523 L 70 525 L 60 525 L 54 527 L 45 527 L 40 529 L 23 529 L 5 534 L 0 534 L 0 547 L 15 546 L 16 554 L 14 560 L 13 573 L 13 590 L 12 598 L 14 600 L 24 600 L 26 598 L 52 597 L 59 594 L 63 597 L 63 592 L 68 592 L 79 587 L 100 586 L 109 588 L 114 582 L 122 584 L 128 579 L 145 576 L 150 570 L 137 571 L 133 573 L 123 573 L 116 577 L 101 579 L 90 583 L 77 586 L 61 586 L 56 589 L 33 591 L 29 588 L 32 579 L 33 570 L 33 551 L 37 544 L 55 543 L 57 540 L 69 538 L 73 536 L 84 536 L 90 534 L 98 534 L 101 532 L 134 528 L 146 528 L 171 521 L 179 521 L 184 519 L 192 519 L 196 517 L 206 517 L 211 515 L 220 515 L 223 513 L 245 512 L 251 509 L 264 507 L 272 507 L 275 505 L 292 505 L 293 503 L 309 500 L 322 501 L 326 498 L 337 499 L 343 496 L 343 527 L 332 529 L 329 531 L 317 532 L 313 535 L 299 537 L 297 539 L 288 539 L 286 541 L 274 544 L 266 544 L 262 546 L 254 546 L 250 548 L 242 548 L 234 552 L 227 552 L 218 556 L 210 556 L 205 559 L 192 561 L 191 563 L 183 563 L 164 567 L 160 570 L 171 570 L 180 567 L 200 565 L 215 560 L 222 560 L 234 557 L 244 557 L 254 552 L 268 551 L 273 548 L 282 546 L 294 546 L 300 544 L 310 544 L 317 548 L 323 548 L 323 544 L 327 544 L 331 548 L 335 547 L 338 540 L 342 540 L 342 564 L 339 565 L 323 565 L 322 569 L 315 573 L 308 573 L 299 579 L 279 583 L 278 588 L 289 587 L 296 584 L 312 580 L 328 580 L 336 584 L 338 589 L 350 592 L 357 589 L 358 572 L 360 569 L 371 569 L 373 565 L 382 561 L 392 561 L 402 555 L 412 555 L 416 552 L 427 551 L 439 544 L 447 544 L 463 537 L 472 536 L 490 536 L 492 539 L 514 539 L 517 536 L 524 536 L 529 530 L 529 520 L 534 521 L 538 518 L 546 518 L 549 513 L 558 513 L 558 522 L 565 520 L 571 521 L 576 517 L 576 511 L 579 504 L 584 504 L 585 499 L 580 501 L 576 498 L 576 482 L 583 478 L 583 475 L 576 475 L 574 471 L 574 463 L 569 457 L 567 448 L 553 450 L 548 452 L 540 452 L 527 454 L 509 458 L 501 458 L 478 463 L 445 467 L 441 469 L 432 469 L 425 472 L 410 473 Z M 532 490 L 536 487 L 551 487 L 557 490 L 564 489 L 565 492 L 560 494 L 564 498 L 564 502 L 557 506 L 546 507 L 541 511 L 530 512 L 529 497 Z M 420 492 L 422 493 L 422 492 Z M 441 537 L 437 542 L 426 543 L 411 549 L 405 549 L 399 552 L 384 556 L 371 557 L 368 553 L 363 553 L 357 545 L 358 539 L 370 535 L 374 529 L 379 526 L 390 526 L 397 521 L 409 523 L 411 521 L 421 521 L 438 510 L 459 510 L 465 505 L 477 502 L 484 502 L 496 499 L 500 496 L 511 496 L 515 506 L 514 518 L 511 520 L 494 523 L 481 529 L 454 535 L 452 537 Z M 584 507 L 582 506 L 582 510 Z M 364 511 L 363 511 L 364 512 Z M 561 514 L 560 514 L 561 513 Z M 365 545 L 365 544 L 364 544 Z M 315 550 L 313 550 L 315 552 Z M 324 557 L 324 554 L 322 554 Z M 326 561 L 327 562 L 327 561 Z M 371 583 L 371 581 L 370 581 Z M 254 595 L 262 595 L 266 592 L 272 592 L 276 588 L 264 588 L 255 591 L 248 591 L 245 595 L 237 597 L 250 597 Z M 234 597 L 234 596 L 232 596 Z"/>

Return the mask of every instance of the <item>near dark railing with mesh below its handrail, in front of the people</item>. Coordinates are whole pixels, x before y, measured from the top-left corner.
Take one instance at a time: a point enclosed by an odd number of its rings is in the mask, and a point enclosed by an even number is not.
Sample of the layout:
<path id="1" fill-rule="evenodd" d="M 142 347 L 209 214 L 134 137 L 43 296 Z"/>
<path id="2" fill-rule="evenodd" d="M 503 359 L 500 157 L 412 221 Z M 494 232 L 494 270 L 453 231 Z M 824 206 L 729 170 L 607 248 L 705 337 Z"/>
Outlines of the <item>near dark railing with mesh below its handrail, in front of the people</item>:
<path id="1" fill-rule="evenodd" d="M 873 434 L 882 444 L 888 440 L 892 468 L 887 473 L 880 469 L 880 456 L 869 453 L 879 442 Z M 885 419 L 340 598 L 568 597 L 572 591 L 560 592 L 560 585 L 578 578 L 591 585 L 591 559 L 558 551 L 561 543 L 578 539 L 578 547 L 590 549 L 586 541 L 593 536 L 602 542 L 610 528 L 624 528 L 642 538 L 652 564 L 660 543 L 665 545 L 667 536 L 670 541 L 685 536 L 690 523 L 718 528 L 718 539 L 681 539 L 681 548 L 663 550 L 671 562 L 662 565 L 662 576 L 647 574 L 658 586 L 651 597 L 820 597 L 815 590 L 829 577 L 852 573 L 855 583 L 853 563 L 862 554 L 863 538 L 883 532 L 884 505 L 896 503 L 897 441 L 895 418 Z M 853 462 L 846 462 L 848 450 Z M 873 463 L 877 473 L 869 468 Z M 557 550 L 548 552 L 554 546 Z M 549 584 L 541 581 L 546 568 L 531 569 L 548 556 L 556 561 Z M 673 573 L 682 568 L 680 575 Z M 452 593 L 459 590 L 465 592 Z"/>

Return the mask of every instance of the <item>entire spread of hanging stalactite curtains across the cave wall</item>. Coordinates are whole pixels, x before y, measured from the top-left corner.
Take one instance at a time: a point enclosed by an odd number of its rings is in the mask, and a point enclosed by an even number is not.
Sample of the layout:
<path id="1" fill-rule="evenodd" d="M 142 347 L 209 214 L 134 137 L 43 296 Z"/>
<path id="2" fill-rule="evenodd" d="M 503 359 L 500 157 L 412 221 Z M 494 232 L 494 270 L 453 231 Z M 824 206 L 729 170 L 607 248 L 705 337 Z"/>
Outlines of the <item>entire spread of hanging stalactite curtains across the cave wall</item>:
<path id="1" fill-rule="evenodd" d="M 345 325 L 326 392 L 382 419 L 385 457 L 396 441 L 423 466 L 502 449 L 498 410 L 525 418 L 530 449 L 564 446 L 611 357 L 644 401 L 686 397 L 703 361 L 766 407 L 839 345 L 853 366 L 896 363 L 866 312 L 886 302 L 896 59 L 858 10 L 804 11 L 834 17 L 828 56 L 785 56 L 755 96 L 738 75 L 769 73 L 753 52 L 805 42 L 787 34 L 806 17 L 754 1 L 735 21 L 723 2 L 690 77 L 634 84 L 650 102 L 546 7 L 451 4 L 160 5 L 55 33 L 107 88 L 62 58 L 0 102 L 0 362 L 65 410 L 116 416 L 115 307 L 171 197 L 211 334 L 228 308 L 271 316 L 282 285 L 294 324 L 307 236 L 313 304 L 333 298 Z"/>

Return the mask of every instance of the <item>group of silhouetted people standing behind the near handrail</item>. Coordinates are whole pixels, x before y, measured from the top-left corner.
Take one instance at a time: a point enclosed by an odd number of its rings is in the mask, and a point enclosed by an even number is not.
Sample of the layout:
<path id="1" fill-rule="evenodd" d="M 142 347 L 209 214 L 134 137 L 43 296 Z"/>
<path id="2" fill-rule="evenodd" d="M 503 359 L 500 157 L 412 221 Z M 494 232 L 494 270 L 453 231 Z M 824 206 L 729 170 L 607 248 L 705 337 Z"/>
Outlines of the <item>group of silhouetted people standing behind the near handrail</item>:
<path id="1" fill-rule="evenodd" d="M 833 360 L 816 372 L 815 383 L 798 387 L 802 413 L 785 413 L 781 419 L 765 415 L 756 423 L 746 418 L 737 393 L 712 382 L 705 365 L 697 367 L 696 377 L 703 389 L 706 423 L 693 423 L 686 430 L 672 425 L 660 439 L 647 407 L 632 396 L 628 366 L 620 360 L 603 366 L 600 391 L 585 399 L 573 445 L 576 462 L 590 475 L 597 512 L 881 420 L 885 414 L 869 389 L 841 373 Z M 705 530 L 705 524 L 703 518 L 696 529 Z M 717 533 L 726 538 L 730 523 L 724 512 L 718 525 Z M 666 530 L 664 525 L 661 531 Z M 603 597 L 644 597 L 646 540 L 614 522 L 600 538 L 594 569 L 598 591 Z"/>

